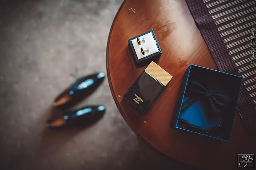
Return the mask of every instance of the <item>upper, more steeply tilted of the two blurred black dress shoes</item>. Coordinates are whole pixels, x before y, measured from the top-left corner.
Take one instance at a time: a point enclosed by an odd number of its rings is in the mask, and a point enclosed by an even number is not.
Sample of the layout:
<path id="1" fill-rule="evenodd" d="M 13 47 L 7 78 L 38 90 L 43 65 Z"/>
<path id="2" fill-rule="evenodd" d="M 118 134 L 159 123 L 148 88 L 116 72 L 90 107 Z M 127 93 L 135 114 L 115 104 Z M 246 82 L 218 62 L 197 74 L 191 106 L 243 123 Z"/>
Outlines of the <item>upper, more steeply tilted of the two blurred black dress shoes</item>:
<path id="1" fill-rule="evenodd" d="M 70 87 L 56 97 L 53 101 L 53 106 L 57 108 L 70 107 L 97 89 L 104 80 L 104 77 L 105 74 L 99 72 L 77 79 Z"/>

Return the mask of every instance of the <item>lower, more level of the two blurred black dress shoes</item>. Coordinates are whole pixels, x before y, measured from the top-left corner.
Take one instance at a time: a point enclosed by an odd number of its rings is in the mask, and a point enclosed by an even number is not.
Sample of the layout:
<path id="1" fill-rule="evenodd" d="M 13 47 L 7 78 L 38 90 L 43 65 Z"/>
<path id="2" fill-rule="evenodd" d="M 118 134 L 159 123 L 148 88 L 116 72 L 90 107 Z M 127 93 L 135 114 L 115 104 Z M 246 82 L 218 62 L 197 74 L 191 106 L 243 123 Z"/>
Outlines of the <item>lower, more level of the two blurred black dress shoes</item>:
<path id="1" fill-rule="evenodd" d="M 55 115 L 47 120 L 47 126 L 60 129 L 63 127 L 87 126 L 99 120 L 105 113 L 104 105 L 92 105 Z"/>

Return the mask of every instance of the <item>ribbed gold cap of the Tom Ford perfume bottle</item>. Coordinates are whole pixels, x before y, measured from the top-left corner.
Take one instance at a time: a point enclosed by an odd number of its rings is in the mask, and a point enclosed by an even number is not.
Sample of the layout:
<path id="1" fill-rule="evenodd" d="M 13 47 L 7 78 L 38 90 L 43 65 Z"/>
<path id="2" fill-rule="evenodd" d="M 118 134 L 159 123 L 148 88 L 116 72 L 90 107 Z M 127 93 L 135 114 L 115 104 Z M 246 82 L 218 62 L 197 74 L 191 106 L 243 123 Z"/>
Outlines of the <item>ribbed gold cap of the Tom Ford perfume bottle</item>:
<path id="1" fill-rule="evenodd" d="M 167 73 L 162 67 L 157 65 L 155 62 L 150 62 L 150 64 L 145 69 L 145 72 L 154 77 L 157 81 L 166 86 L 171 80 L 171 74 Z"/>

